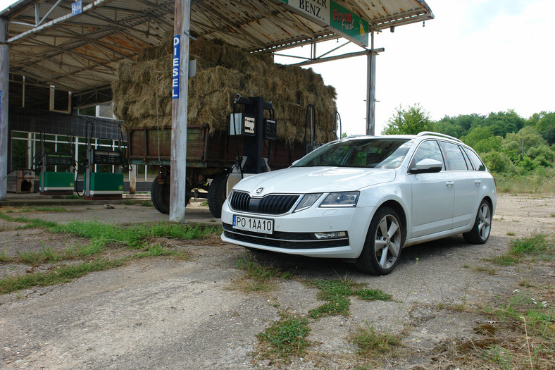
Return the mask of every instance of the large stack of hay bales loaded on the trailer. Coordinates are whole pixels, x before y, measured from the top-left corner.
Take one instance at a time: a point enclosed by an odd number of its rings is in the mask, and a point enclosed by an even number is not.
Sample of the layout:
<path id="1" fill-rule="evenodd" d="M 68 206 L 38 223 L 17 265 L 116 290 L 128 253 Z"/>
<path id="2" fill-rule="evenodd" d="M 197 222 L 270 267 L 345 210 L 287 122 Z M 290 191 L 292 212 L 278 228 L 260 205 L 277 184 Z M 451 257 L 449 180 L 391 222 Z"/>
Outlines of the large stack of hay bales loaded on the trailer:
<path id="1" fill-rule="evenodd" d="M 113 82 L 114 113 L 127 127 L 171 125 L 172 39 L 142 51 L 137 61 L 118 66 Z M 335 88 L 312 69 L 273 63 L 271 56 L 248 54 L 223 42 L 191 40 L 197 75 L 189 78 L 187 124 L 208 123 L 211 133 L 227 130 L 235 94 L 272 101 L 278 138 L 302 142 L 308 104 L 316 109 L 316 141 L 334 139 Z"/>

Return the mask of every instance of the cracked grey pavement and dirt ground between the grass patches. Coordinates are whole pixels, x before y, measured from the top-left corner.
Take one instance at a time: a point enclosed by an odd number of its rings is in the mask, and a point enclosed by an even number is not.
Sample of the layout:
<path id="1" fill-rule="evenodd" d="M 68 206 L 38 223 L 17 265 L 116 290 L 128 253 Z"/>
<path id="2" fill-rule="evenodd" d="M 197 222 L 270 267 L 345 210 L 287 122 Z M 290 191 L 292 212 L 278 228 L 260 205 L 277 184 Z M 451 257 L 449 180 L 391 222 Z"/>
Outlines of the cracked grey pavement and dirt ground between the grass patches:
<path id="1" fill-rule="evenodd" d="M 58 222 L 167 219 L 144 206 L 65 207 L 63 214 L 25 216 Z M 198 204 L 187 212 L 191 219 L 214 223 Z M 555 286 L 552 262 L 494 266 L 490 274 L 493 265 L 485 260 L 504 254 L 511 238 L 555 234 L 554 215 L 554 195 L 500 195 L 487 244 L 467 245 L 457 236 L 408 247 L 388 276 L 368 276 L 332 259 L 256 253 L 263 264 L 294 271 L 294 278 L 280 280 L 278 289 L 266 294 L 234 289 L 242 276 L 237 260 L 249 253 L 242 247 L 218 240 L 175 242 L 192 259 L 139 259 L 71 283 L 1 295 L 0 369 L 356 369 L 368 365 L 349 338 L 367 325 L 403 333 L 406 355 L 382 359 L 382 368 L 455 369 L 456 364 L 438 360 L 440 345 L 479 339 L 475 328 L 489 319 L 479 310 L 449 307 L 483 307 L 496 297 L 511 296 L 522 280 Z M 6 255 L 86 242 L 38 229 L 14 230 L 0 221 L 0 251 Z M 4 264 L 0 269 L 1 276 L 10 276 L 30 267 Z M 301 283 L 311 278 L 351 278 L 393 300 L 351 297 L 348 316 L 311 320 L 312 345 L 305 357 L 289 363 L 258 359 L 253 355 L 256 334 L 278 320 L 280 312 L 306 315 L 323 304 L 318 290 Z M 375 364 L 366 367 L 373 368 Z"/>

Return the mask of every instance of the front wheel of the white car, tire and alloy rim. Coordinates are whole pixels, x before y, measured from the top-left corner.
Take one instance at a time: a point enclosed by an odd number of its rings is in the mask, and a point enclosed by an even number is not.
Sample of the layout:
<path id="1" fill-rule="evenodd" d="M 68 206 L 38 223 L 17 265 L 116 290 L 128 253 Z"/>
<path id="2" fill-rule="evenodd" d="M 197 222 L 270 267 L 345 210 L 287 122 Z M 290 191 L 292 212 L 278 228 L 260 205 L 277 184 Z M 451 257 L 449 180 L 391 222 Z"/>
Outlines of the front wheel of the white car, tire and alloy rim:
<path id="1" fill-rule="evenodd" d="M 404 244 L 403 225 L 397 212 L 389 207 L 376 211 L 356 267 L 373 275 L 387 275 L 397 265 Z"/>

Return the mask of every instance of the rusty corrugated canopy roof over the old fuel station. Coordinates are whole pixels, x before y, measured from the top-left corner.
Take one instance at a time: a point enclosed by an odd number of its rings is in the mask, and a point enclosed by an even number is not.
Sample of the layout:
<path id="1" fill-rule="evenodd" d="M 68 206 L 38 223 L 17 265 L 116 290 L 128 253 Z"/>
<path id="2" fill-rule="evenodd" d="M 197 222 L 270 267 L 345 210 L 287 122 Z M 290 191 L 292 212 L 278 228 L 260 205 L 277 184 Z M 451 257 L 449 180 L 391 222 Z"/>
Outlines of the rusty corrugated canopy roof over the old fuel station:
<path id="1" fill-rule="evenodd" d="M 0 13 L 8 23 L 13 81 L 25 76 L 74 94 L 104 89 L 94 99 L 106 101 L 118 63 L 173 34 L 173 0 L 83 0 L 77 16 L 71 16 L 73 1 L 57 2 L 22 0 Z M 420 0 L 336 2 L 368 20 L 370 30 L 433 18 Z M 192 0 L 191 31 L 261 52 L 339 37 L 288 11 L 281 0 Z"/>

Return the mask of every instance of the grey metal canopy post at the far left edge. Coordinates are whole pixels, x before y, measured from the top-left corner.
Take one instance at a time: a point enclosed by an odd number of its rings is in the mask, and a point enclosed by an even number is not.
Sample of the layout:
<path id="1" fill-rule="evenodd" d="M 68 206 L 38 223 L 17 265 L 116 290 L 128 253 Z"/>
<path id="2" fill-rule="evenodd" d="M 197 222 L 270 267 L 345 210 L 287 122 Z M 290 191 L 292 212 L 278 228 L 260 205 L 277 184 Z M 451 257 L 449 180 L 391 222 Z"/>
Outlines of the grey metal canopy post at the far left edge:
<path id="1" fill-rule="evenodd" d="M 6 20 L 0 18 L 0 200 L 8 188 L 8 81 L 10 53 L 6 44 Z"/>

